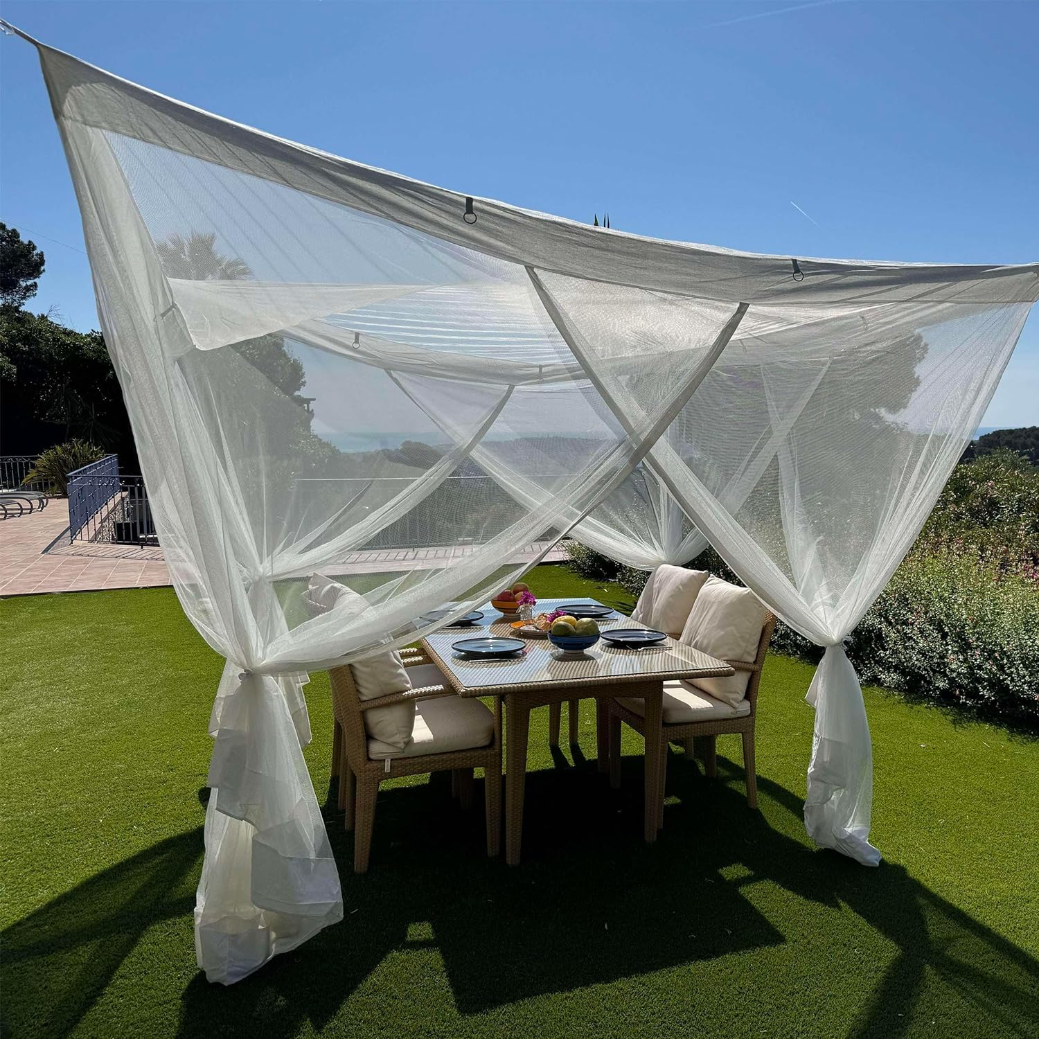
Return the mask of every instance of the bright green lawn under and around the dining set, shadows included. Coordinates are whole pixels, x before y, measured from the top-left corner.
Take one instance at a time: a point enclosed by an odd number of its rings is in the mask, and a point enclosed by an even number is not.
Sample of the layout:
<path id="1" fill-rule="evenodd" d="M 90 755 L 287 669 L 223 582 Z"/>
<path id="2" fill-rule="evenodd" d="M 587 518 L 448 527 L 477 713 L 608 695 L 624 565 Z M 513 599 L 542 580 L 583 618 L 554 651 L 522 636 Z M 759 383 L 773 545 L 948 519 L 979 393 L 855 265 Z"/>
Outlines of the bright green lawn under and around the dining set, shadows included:
<path id="1" fill-rule="evenodd" d="M 627 602 L 561 567 L 531 583 Z M 314 674 L 307 756 L 345 920 L 223 988 L 196 970 L 191 931 L 220 660 L 170 589 L 7 600 L 0 618 L 5 1035 L 1039 1034 L 1034 740 L 867 690 L 885 856 L 868 870 L 805 837 L 811 668 L 774 657 L 761 811 L 723 737 L 715 782 L 672 757 L 646 846 L 637 739 L 614 793 L 583 756 L 591 705 L 577 763 L 549 752 L 542 710 L 523 865 L 487 860 L 482 809 L 438 776 L 383 791 L 355 878 Z"/>

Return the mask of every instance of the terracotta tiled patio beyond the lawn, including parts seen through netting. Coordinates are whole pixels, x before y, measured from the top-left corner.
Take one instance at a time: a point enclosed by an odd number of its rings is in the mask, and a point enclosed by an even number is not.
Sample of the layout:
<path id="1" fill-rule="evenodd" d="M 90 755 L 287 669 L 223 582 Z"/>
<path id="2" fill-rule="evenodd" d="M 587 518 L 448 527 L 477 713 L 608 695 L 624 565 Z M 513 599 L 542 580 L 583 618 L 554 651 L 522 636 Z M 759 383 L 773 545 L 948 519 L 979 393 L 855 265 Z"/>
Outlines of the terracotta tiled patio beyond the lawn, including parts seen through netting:
<path id="1" fill-rule="evenodd" d="M 526 545 L 510 562 L 533 561 L 545 542 Z M 378 574 L 397 569 L 432 569 L 473 552 L 453 549 L 381 549 L 354 552 L 343 572 Z M 545 562 L 564 559 L 553 548 Z M 42 512 L 0 522 L 0 596 L 100 588 L 150 588 L 168 585 L 162 550 L 123 544 L 69 542 L 69 511 L 61 499 Z"/>

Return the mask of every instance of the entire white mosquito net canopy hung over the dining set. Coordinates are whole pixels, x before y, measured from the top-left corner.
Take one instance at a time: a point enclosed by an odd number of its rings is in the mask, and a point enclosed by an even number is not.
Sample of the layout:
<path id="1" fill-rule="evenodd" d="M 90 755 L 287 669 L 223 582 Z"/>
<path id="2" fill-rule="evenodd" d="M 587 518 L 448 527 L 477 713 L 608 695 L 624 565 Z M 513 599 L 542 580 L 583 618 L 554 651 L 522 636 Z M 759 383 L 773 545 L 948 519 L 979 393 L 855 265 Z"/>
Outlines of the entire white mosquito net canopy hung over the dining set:
<path id="1" fill-rule="evenodd" d="M 566 532 L 645 569 L 710 542 L 826 647 L 805 823 L 879 860 L 842 643 L 973 435 L 1039 266 L 760 256 L 470 204 L 37 46 L 159 537 L 228 661 L 207 977 L 342 916 L 307 669 L 411 641 Z M 350 571 L 416 538 L 442 550 L 424 568 Z M 312 617 L 315 572 L 359 594 Z"/>

